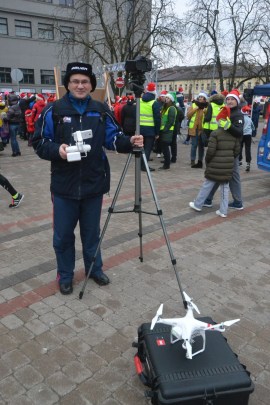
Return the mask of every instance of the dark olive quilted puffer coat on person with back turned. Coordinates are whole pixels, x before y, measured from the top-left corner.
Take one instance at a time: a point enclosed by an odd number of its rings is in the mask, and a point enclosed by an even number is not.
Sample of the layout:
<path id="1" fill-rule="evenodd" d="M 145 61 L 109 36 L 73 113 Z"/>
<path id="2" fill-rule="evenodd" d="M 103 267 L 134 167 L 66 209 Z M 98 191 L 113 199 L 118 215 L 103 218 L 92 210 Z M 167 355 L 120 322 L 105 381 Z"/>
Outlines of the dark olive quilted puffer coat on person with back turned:
<path id="1" fill-rule="evenodd" d="M 234 159 L 240 153 L 237 138 L 223 128 L 211 132 L 205 156 L 205 177 L 208 180 L 225 183 L 232 177 Z"/>

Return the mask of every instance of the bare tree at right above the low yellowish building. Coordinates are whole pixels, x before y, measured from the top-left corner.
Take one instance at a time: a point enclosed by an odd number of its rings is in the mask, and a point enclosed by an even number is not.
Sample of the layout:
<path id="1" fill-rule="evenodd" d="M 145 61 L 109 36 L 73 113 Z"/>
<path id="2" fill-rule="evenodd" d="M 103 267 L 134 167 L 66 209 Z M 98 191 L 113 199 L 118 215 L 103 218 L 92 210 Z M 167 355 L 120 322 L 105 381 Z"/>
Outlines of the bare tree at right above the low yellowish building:
<path id="1" fill-rule="evenodd" d="M 217 71 L 221 90 L 224 90 L 224 69 L 227 69 L 229 90 L 258 77 L 258 69 L 251 67 L 254 67 L 263 3 L 263 0 L 201 0 L 199 3 L 194 0 L 185 16 L 183 25 L 190 40 L 189 48 L 199 52 L 204 64 L 213 65 L 213 81 Z M 245 79 L 236 83 L 239 66 Z"/>

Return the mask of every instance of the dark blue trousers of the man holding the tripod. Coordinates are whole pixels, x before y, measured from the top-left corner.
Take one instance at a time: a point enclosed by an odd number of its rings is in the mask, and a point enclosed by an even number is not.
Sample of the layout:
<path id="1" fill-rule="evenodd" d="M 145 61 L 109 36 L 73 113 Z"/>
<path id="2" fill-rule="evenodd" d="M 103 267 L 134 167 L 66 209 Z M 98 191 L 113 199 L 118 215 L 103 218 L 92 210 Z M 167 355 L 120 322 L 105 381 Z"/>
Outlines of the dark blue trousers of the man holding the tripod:
<path id="1" fill-rule="evenodd" d="M 75 268 L 74 230 L 79 221 L 85 273 L 99 243 L 100 216 L 103 196 L 73 200 L 53 196 L 53 247 L 57 260 L 60 283 L 72 281 Z M 102 258 L 97 254 L 91 275 L 102 274 Z"/>

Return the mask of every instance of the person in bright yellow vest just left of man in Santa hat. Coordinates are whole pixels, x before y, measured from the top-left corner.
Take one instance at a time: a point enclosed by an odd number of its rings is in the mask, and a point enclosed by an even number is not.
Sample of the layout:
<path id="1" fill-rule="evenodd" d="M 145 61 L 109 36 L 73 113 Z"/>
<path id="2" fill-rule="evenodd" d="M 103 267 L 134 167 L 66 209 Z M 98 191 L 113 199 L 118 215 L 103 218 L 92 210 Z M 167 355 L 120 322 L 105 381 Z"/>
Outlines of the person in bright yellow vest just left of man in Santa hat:
<path id="1" fill-rule="evenodd" d="M 209 104 L 204 114 L 203 132 L 201 135 L 204 146 L 208 145 L 211 132 L 218 129 L 216 118 L 220 109 L 225 106 L 224 99 L 224 96 L 219 93 L 215 93 L 209 98 Z"/>

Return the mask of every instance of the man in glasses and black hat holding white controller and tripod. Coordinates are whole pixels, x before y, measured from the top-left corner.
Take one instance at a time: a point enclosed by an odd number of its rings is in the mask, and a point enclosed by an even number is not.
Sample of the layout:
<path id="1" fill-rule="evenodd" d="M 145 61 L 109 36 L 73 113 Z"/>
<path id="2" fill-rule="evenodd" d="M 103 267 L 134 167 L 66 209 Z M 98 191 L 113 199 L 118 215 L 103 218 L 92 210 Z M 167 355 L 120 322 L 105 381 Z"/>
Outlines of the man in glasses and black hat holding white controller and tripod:
<path id="1" fill-rule="evenodd" d="M 71 294 L 77 222 L 80 223 L 86 274 L 99 243 L 102 199 L 110 188 L 110 169 L 104 147 L 131 152 L 132 146 L 143 146 L 143 138 L 124 136 L 108 106 L 90 97 L 96 87 L 91 65 L 69 63 L 64 86 L 67 94 L 42 111 L 32 143 L 39 157 L 51 161 L 57 277 L 60 292 Z M 86 131 L 83 132 L 84 143 L 79 145 L 82 131 Z M 76 140 L 79 151 L 86 151 L 79 153 L 78 160 L 78 152 L 74 155 L 67 149 L 69 145 L 75 147 Z M 100 252 L 90 277 L 101 286 L 110 282 L 102 270 Z"/>

